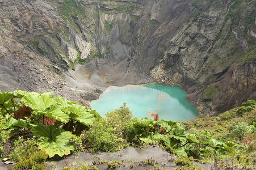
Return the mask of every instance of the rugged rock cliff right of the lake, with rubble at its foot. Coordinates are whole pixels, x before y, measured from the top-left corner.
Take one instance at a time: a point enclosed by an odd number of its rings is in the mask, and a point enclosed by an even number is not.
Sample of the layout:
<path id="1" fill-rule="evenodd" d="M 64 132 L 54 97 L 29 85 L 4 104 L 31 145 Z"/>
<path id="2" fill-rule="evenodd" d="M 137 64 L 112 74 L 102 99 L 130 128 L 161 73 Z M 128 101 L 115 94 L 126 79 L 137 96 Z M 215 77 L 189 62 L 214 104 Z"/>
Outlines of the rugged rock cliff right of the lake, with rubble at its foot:
<path id="1" fill-rule="evenodd" d="M 195 1 L 152 75 L 192 93 L 202 116 L 254 99 L 255 22 L 255 1 Z"/>

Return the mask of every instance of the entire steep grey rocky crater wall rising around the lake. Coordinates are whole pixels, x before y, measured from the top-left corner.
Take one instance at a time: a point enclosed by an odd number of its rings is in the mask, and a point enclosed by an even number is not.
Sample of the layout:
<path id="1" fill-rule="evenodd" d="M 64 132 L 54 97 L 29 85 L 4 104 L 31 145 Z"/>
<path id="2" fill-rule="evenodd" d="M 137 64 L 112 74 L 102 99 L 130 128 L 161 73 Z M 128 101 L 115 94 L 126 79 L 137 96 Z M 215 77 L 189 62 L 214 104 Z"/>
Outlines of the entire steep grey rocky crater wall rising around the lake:
<path id="1" fill-rule="evenodd" d="M 0 0 L 1 90 L 93 99 L 157 80 L 182 86 L 202 116 L 223 112 L 256 96 L 255 2 Z"/>

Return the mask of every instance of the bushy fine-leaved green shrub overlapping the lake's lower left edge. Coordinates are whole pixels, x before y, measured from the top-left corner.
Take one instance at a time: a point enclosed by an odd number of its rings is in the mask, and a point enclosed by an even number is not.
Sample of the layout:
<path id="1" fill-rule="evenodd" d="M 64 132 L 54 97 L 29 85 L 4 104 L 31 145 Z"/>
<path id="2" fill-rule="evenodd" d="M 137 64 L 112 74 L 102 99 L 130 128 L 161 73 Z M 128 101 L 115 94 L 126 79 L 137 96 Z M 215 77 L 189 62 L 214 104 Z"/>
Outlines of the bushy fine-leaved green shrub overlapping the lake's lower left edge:
<path id="1" fill-rule="evenodd" d="M 83 145 L 90 147 L 90 151 L 98 150 L 114 152 L 127 146 L 129 128 L 132 123 L 132 113 L 124 104 L 115 111 L 106 113 L 106 118 L 94 121 L 89 131 L 82 135 Z"/>

